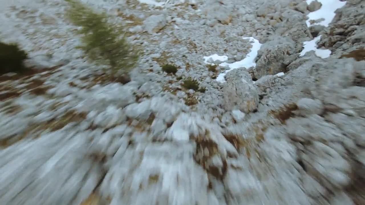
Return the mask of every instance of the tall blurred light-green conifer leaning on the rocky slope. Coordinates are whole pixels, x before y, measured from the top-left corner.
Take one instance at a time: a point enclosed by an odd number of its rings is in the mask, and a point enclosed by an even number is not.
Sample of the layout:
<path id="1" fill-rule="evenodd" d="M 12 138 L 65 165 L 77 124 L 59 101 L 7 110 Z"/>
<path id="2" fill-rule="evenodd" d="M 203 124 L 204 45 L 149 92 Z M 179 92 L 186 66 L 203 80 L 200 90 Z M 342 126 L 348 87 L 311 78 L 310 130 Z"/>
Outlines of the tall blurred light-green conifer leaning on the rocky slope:
<path id="1" fill-rule="evenodd" d="M 97 13 L 79 0 L 65 0 L 70 4 L 66 15 L 81 30 L 83 45 L 88 57 L 101 65 L 110 65 L 114 74 L 127 74 L 138 61 L 138 52 L 121 36 L 116 25 L 108 23 L 105 13 Z"/>

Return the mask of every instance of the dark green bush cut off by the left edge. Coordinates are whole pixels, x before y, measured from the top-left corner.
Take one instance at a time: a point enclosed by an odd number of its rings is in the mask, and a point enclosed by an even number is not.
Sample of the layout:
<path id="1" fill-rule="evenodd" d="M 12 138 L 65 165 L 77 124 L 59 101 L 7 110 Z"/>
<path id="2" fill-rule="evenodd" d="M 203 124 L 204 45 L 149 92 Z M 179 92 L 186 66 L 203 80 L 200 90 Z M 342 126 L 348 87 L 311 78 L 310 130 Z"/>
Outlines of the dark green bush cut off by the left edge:
<path id="1" fill-rule="evenodd" d="M 0 74 L 9 72 L 20 73 L 27 70 L 23 64 L 23 61 L 27 58 L 27 53 L 20 50 L 17 44 L 0 42 Z"/>

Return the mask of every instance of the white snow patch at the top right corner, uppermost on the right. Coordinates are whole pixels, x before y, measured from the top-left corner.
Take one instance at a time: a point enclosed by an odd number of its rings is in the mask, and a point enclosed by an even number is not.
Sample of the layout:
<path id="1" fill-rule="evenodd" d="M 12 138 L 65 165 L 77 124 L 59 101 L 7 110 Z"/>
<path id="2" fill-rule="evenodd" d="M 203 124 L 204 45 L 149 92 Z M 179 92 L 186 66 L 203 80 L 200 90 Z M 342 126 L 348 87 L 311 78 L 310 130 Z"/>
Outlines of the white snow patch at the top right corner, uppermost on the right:
<path id="1" fill-rule="evenodd" d="M 309 5 L 314 0 L 306 0 Z M 322 3 L 322 7 L 317 11 L 309 13 L 308 20 L 306 20 L 307 26 L 311 25 L 322 25 L 327 27 L 328 24 L 332 22 L 332 19 L 335 17 L 335 11 L 338 8 L 343 7 L 346 4 L 346 1 L 339 0 L 317 0 Z M 324 20 L 318 23 L 310 24 L 310 20 L 317 20 L 323 18 Z"/>

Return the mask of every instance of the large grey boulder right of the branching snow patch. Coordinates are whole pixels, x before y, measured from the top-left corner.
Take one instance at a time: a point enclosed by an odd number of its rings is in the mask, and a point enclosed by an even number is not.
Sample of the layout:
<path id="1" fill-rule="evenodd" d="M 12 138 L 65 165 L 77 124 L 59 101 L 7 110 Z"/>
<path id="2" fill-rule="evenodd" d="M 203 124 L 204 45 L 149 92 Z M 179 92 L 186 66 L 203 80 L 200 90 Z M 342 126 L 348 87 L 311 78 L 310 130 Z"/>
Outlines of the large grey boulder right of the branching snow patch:
<path id="1" fill-rule="evenodd" d="M 255 78 L 274 75 L 285 71 L 285 60 L 295 53 L 295 43 L 288 37 L 275 36 L 267 41 L 258 51 L 256 67 L 253 70 Z"/>

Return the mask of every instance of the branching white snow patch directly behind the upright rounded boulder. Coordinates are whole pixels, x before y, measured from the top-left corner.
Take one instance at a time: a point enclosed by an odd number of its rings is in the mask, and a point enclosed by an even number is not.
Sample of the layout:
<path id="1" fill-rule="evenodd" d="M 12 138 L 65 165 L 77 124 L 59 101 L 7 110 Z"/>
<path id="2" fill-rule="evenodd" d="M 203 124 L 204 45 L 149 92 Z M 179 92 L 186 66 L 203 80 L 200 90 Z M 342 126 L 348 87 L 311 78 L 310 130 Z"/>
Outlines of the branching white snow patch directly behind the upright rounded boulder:
<path id="1" fill-rule="evenodd" d="M 229 67 L 230 69 L 226 70 L 224 73 L 220 73 L 218 75 L 218 77 L 216 79 L 218 82 L 221 82 L 221 83 L 225 82 L 224 76 L 226 75 L 226 73 L 228 73 L 228 71 L 231 71 L 231 70 L 239 68 L 239 67 L 245 67 L 246 69 L 249 69 L 250 67 L 256 66 L 255 58 L 256 58 L 257 52 L 258 52 L 258 50 L 260 50 L 262 44 L 253 37 L 242 37 L 242 39 L 250 40 L 250 43 L 252 45 L 250 53 L 248 53 L 246 55 L 246 58 L 242 59 L 241 61 L 237 61 L 234 63 L 226 63 L 226 62 L 220 63 L 219 66 Z M 204 62 L 208 63 L 207 61 L 209 58 L 212 58 L 213 61 L 214 60 L 226 61 L 228 59 L 228 57 L 225 55 L 220 56 L 220 55 L 214 54 L 214 55 L 211 55 L 208 57 L 204 57 Z"/>

